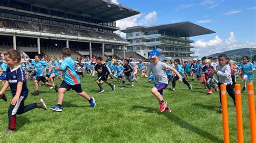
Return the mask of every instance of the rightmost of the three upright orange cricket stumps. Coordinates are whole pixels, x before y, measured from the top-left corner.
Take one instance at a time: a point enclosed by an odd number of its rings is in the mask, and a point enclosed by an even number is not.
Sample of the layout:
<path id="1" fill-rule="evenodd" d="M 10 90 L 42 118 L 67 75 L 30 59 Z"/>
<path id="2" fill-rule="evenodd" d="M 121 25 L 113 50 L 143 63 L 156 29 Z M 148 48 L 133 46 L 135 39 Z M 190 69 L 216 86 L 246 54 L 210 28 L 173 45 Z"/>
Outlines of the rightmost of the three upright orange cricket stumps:
<path id="1" fill-rule="evenodd" d="M 248 87 L 248 102 L 250 113 L 250 128 L 251 128 L 251 142 L 256 142 L 256 124 L 255 124 L 255 103 L 253 84 L 247 84 Z"/>

